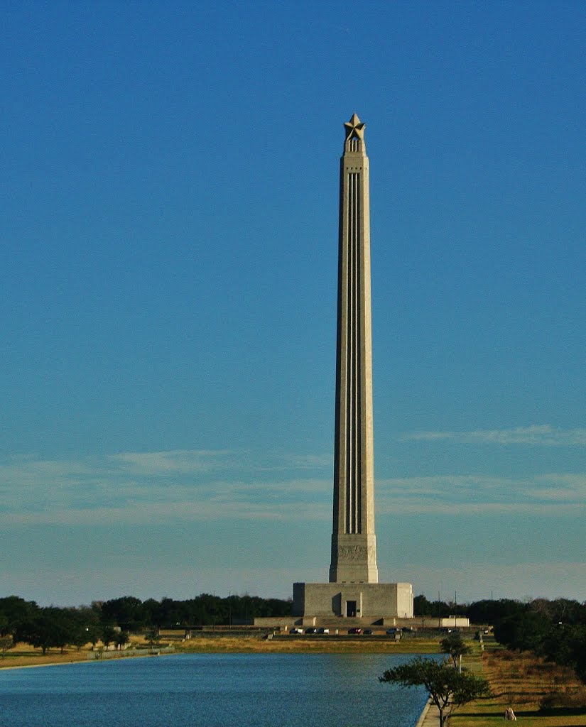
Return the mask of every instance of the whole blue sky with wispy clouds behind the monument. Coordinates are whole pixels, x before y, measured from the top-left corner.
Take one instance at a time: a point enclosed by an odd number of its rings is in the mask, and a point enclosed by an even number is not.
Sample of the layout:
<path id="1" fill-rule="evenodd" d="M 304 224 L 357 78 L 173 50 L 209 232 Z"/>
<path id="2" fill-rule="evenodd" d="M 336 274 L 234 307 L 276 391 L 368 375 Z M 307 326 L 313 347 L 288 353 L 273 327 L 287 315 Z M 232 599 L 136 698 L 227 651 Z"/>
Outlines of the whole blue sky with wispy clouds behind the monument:
<path id="1" fill-rule="evenodd" d="M 0 9 L 0 583 L 287 597 L 366 122 L 380 577 L 586 599 L 580 2 Z"/>

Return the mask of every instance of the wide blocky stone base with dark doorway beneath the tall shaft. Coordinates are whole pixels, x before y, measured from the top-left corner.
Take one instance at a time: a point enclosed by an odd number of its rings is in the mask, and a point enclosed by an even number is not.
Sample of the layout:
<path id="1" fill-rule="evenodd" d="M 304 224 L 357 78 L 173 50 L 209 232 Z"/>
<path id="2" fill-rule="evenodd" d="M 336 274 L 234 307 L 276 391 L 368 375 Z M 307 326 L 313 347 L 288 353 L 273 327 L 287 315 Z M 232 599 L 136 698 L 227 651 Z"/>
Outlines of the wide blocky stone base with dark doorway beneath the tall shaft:
<path id="1" fill-rule="evenodd" d="M 413 618 L 410 583 L 294 583 L 293 615 Z"/>

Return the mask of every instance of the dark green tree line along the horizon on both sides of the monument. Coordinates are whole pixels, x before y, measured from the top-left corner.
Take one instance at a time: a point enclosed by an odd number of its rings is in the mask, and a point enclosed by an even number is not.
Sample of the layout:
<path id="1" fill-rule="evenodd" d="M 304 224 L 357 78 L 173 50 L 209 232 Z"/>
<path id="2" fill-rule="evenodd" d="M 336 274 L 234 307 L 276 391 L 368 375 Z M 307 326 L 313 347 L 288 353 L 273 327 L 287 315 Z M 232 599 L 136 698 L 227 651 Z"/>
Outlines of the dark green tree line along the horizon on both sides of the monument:
<path id="1" fill-rule="evenodd" d="M 499 643 L 531 650 L 558 664 L 574 668 L 586 682 L 586 603 L 567 598 L 483 600 L 469 604 L 414 598 L 416 616 L 467 616 L 473 624 L 491 624 Z M 255 616 L 291 616 L 292 601 L 260 598 L 247 593 L 220 598 L 201 593 L 187 601 L 156 601 L 127 595 L 89 606 L 38 606 L 12 595 L 0 598 L 0 651 L 22 641 L 43 649 L 101 641 L 122 646 L 129 632 L 157 632 L 187 626 L 252 623 Z"/>

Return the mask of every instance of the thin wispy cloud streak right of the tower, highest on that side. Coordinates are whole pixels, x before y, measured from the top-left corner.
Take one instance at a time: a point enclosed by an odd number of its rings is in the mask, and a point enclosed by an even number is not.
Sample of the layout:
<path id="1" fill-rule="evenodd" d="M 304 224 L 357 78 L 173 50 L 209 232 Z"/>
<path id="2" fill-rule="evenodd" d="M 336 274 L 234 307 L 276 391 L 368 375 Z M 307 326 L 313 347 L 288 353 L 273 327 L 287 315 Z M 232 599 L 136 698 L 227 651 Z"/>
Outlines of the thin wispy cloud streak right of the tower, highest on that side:
<path id="1" fill-rule="evenodd" d="M 409 432 L 402 441 L 452 441 L 462 444 L 523 444 L 531 446 L 586 446 L 586 429 L 563 430 L 549 424 L 513 427 L 513 429 L 475 430 L 470 432 Z"/>

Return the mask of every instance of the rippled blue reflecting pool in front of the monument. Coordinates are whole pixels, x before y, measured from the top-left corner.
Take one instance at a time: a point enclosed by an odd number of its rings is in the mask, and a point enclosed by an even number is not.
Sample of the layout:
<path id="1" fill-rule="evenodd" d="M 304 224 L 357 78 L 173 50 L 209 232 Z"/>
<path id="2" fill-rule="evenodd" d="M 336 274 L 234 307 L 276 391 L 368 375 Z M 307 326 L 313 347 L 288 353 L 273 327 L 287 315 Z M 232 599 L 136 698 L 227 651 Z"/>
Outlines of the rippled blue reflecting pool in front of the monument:
<path id="1" fill-rule="evenodd" d="M 7 727 L 413 727 L 427 695 L 387 654 L 174 654 L 0 670 Z"/>

